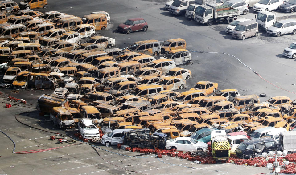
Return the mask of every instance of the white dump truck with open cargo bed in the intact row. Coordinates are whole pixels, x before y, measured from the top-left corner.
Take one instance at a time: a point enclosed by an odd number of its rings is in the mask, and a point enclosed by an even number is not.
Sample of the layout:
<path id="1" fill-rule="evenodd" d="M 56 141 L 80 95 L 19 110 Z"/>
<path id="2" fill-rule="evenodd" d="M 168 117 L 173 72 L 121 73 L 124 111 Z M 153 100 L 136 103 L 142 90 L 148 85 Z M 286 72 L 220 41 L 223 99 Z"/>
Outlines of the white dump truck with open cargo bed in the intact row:
<path id="1" fill-rule="evenodd" d="M 227 21 L 230 24 L 238 15 L 240 15 L 239 10 L 230 9 L 228 6 L 216 6 L 216 0 L 211 0 L 195 9 L 194 20 L 207 26 L 221 21 Z"/>

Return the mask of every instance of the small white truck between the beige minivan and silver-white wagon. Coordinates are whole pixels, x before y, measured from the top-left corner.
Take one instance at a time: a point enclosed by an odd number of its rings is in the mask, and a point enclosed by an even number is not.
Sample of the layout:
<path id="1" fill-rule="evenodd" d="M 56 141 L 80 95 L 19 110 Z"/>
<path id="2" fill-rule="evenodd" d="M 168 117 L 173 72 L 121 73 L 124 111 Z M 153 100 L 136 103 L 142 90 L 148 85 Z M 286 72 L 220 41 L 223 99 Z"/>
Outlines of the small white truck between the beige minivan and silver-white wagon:
<path id="1" fill-rule="evenodd" d="M 266 30 L 268 27 L 272 26 L 278 21 L 278 14 L 273 11 L 260 11 L 257 16 L 255 15 L 256 22 L 258 22 L 258 27 Z"/>

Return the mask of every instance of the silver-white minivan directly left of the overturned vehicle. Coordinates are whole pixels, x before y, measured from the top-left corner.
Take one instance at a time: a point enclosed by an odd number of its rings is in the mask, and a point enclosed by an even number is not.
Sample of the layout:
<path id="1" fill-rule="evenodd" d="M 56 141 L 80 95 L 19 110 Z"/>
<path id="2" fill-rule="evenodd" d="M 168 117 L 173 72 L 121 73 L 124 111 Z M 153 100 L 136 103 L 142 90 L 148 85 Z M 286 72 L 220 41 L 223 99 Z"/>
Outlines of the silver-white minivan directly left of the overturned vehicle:
<path id="1" fill-rule="evenodd" d="M 123 143 L 124 136 L 122 132 L 124 131 L 132 131 L 133 129 L 114 129 L 109 134 L 104 134 L 102 136 L 101 144 L 105 146 L 116 145 L 119 143 Z"/>

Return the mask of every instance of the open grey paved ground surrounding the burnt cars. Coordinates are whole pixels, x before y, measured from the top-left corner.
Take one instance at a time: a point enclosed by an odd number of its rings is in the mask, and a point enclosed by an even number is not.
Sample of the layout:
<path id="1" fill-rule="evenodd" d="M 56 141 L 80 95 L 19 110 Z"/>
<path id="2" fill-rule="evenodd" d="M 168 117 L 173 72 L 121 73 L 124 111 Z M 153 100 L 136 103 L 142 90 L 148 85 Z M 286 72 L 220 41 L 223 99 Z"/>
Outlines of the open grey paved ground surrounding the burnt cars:
<path id="1" fill-rule="evenodd" d="M 19 2 L 19 1 L 16 1 Z M 236 56 L 247 66 L 256 71 L 262 78 L 252 70 L 244 66 L 236 58 L 217 53 L 195 53 L 191 52 L 193 64 L 183 65 L 192 71 L 193 78 L 187 81 L 187 90 L 200 80 L 208 80 L 218 83 L 218 88 L 236 88 L 242 95 L 266 93 L 267 97 L 261 98 L 265 101 L 273 96 L 289 96 L 292 100 L 296 98 L 296 87 L 292 83 L 295 81 L 295 59 L 282 57 L 282 51 L 294 42 L 294 35 L 287 34 L 281 37 L 271 37 L 260 32 L 257 38 L 248 38 L 244 41 L 232 39 L 231 35 L 225 33 L 227 26 L 225 22 L 214 24 L 210 27 L 201 25 L 195 21 L 188 20 L 184 16 L 171 15 L 164 10 L 164 1 L 141 1 L 141 0 L 84 0 L 82 1 L 49 1 L 47 9 L 36 9 L 41 12 L 60 11 L 82 17 L 93 11 L 105 10 L 111 16 L 108 30 L 98 31 L 98 35 L 103 35 L 116 39 L 116 47 L 125 48 L 130 44 L 147 39 L 157 39 L 164 41 L 172 38 L 183 38 L 187 42 L 187 49 L 192 51 L 221 52 Z M 250 11 L 252 11 L 250 9 Z M 246 16 L 254 18 L 251 12 Z M 147 32 L 138 31 L 125 35 L 116 31 L 117 25 L 128 18 L 142 17 L 148 24 Z M 273 83 L 274 85 L 268 83 Z M 276 87 L 277 86 L 277 87 Z M 280 88 L 279 88 L 280 87 Z M 44 149 L 60 147 L 64 144 L 56 144 L 50 141 L 51 133 L 39 131 L 20 124 L 15 120 L 15 115 L 19 112 L 35 111 L 24 114 L 20 120 L 27 124 L 48 131 L 73 134 L 76 131 L 60 131 L 49 123 L 49 116 L 39 116 L 38 111 L 33 109 L 37 106 L 37 99 L 43 93 L 51 93 L 50 90 L 32 91 L 23 90 L 19 93 L 10 92 L 11 89 L 0 89 L 4 95 L 0 98 L 2 102 L 0 108 L 0 129 L 11 136 L 17 147 L 16 151 Z M 288 92 L 290 91 L 290 92 Z M 27 100 L 28 107 L 18 107 L 13 105 L 6 109 L 7 102 L 4 96 L 14 96 Z M 97 153 L 89 145 L 80 144 L 34 154 L 12 154 L 13 144 L 3 134 L 0 134 L 0 174 L 128 174 L 132 173 L 120 169 L 98 157 Z M 184 159 L 166 157 L 160 158 L 162 161 L 196 167 L 190 169 L 186 167 L 165 164 L 158 161 L 153 155 L 145 155 L 135 158 L 125 157 L 115 153 L 125 155 L 138 155 L 127 151 L 117 150 L 115 147 L 101 146 L 114 153 L 98 150 L 101 156 L 125 169 L 138 171 L 143 174 L 257 174 L 270 173 L 266 168 L 255 168 L 247 166 L 237 166 L 233 164 L 215 165 L 191 165 L 191 161 Z M 153 157 L 150 157 L 153 156 Z M 139 156 L 141 157 L 141 156 Z M 200 169 L 201 168 L 201 169 Z M 132 173 L 135 174 L 135 173 Z"/>

